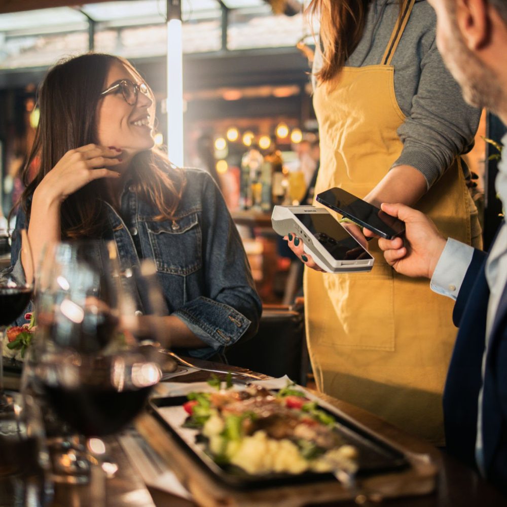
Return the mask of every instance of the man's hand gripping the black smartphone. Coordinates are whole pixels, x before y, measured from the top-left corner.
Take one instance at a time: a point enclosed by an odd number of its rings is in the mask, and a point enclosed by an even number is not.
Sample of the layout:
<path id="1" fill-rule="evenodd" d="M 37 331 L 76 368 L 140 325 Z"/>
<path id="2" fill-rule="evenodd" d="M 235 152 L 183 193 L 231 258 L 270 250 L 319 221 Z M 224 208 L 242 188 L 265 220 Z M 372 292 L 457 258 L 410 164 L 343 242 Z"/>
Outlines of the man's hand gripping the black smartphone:
<path id="1" fill-rule="evenodd" d="M 405 222 L 405 245 L 400 237 L 380 238 L 379 247 L 387 263 L 398 273 L 431 278 L 445 247 L 446 239 L 433 222 L 405 204 L 382 204 L 387 214 Z"/>

